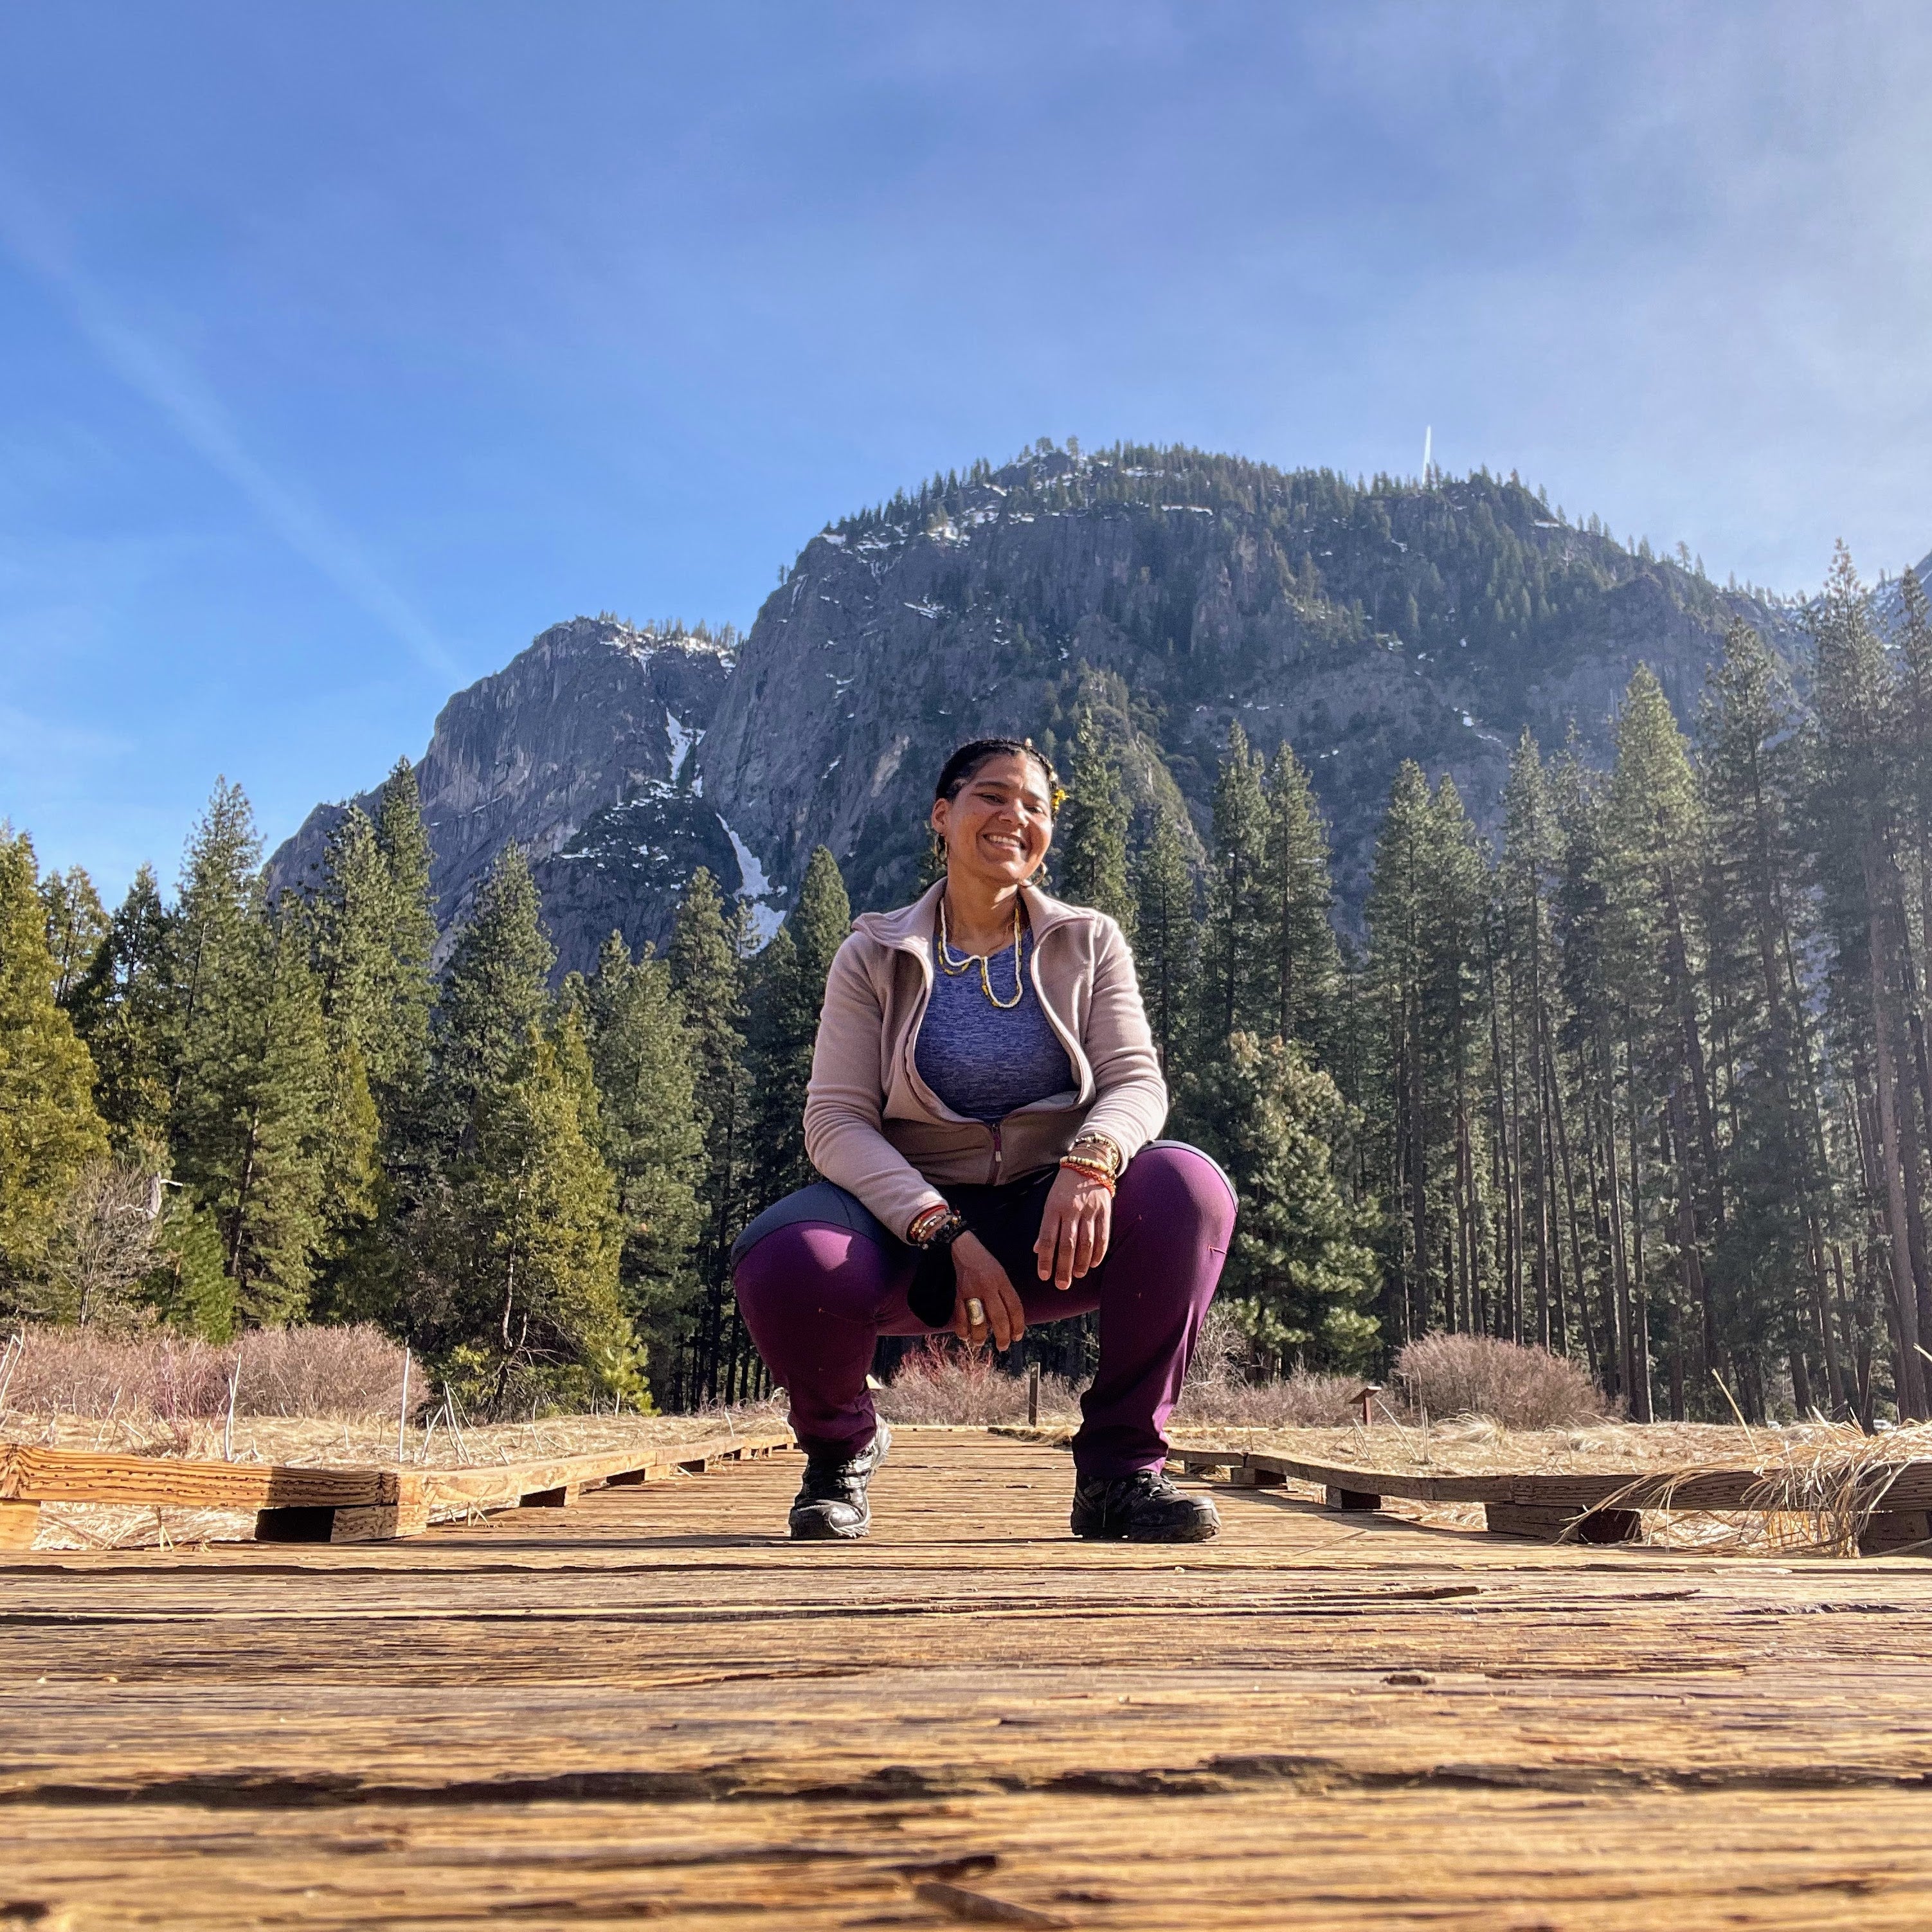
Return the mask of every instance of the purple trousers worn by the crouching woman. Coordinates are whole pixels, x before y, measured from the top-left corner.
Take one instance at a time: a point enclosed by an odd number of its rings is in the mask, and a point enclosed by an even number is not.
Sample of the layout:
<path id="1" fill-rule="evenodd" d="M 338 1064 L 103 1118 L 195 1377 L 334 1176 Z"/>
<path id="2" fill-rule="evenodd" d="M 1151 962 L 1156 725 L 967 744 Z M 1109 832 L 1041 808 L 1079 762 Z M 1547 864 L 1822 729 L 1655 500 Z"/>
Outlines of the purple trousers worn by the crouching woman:
<path id="1" fill-rule="evenodd" d="M 1065 1294 L 1036 1273 L 1045 1188 L 1036 1184 L 1034 1194 L 1037 1206 L 1009 1217 L 1009 1233 L 987 1246 L 1030 1323 L 1099 1310 L 1099 1370 L 1080 1399 L 1074 1466 L 1082 1476 L 1159 1468 L 1161 1432 L 1227 1260 L 1233 1188 L 1196 1148 L 1177 1140 L 1142 1148 L 1121 1177 L 1107 1260 Z M 844 1188 L 819 1180 L 767 1208 L 738 1236 L 734 1264 L 738 1308 L 773 1379 L 790 1393 L 800 1447 L 856 1455 L 875 1426 L 866 1387 L 873 1345 L 881 1335 L 937 1333 L 906 1306 L 914 1250 Z"/>

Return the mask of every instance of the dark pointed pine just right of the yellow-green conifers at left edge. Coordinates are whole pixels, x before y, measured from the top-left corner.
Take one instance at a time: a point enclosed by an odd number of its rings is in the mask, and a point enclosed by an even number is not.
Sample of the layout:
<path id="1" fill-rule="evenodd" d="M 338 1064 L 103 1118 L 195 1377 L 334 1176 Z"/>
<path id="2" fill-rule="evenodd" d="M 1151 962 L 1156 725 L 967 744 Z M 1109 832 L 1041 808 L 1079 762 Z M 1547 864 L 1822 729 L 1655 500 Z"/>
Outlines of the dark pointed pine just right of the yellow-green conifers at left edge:
<path id="1" fill-rule="evenodd" d="M 180 1055 L 178 922 L 143 866 L 73 987 L 75 1032 L 95 1059 L 95 1101 L 114 1153 L 162 1167 Z"/>

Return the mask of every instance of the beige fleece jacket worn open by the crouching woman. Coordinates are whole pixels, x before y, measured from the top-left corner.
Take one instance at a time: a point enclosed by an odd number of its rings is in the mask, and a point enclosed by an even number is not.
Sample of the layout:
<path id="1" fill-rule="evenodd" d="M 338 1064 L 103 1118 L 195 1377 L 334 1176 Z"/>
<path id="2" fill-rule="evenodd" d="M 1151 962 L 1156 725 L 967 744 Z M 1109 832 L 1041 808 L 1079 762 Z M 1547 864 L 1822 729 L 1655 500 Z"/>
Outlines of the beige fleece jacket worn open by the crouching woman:
<path id="1" fill-rule="evenodd" d="M 1167 1119 L 1167 1082 L 1148 1032 L 1134 954 L 1103 912 L 1024 887 L 1030 972 L 1078 1088 L 987 1126 L 952 1113 L 912 1049 L 933 989 L 943 883 L 914 906 L 867 912 L 833 958 L 806 1092 L 811 1165 L 895 1235 L 941 1202 L 939 1184 L 1018 1180 L 1051 1167 L 1082 1126 L 1132 1159 Z M 937 1184 L 935 1184 L 937 1182 Z"/>

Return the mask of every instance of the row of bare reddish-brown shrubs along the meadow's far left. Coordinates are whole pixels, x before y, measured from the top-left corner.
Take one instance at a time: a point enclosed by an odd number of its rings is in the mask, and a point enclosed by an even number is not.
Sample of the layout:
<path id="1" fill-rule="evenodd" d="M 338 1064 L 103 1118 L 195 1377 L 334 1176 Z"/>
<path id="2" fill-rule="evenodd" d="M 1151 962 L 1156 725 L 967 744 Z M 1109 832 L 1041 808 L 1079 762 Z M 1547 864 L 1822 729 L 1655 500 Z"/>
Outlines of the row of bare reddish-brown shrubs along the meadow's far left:
<path id="1" fill-rule="evenodd" d="M 251 1329 L 213 1347 L 170 1329 L 108 1335 L 100 1327 L 21 1329 L 0 1408 L 31 1416 L 151 1416 L 158 1422 L 236 1414 L 354 1422 L 402 1408 L 402 1345 L 369 1323 Z M 429 1378 L 412 1378 L 412 1410 L 431 1406 Z"/>

